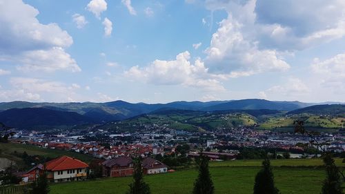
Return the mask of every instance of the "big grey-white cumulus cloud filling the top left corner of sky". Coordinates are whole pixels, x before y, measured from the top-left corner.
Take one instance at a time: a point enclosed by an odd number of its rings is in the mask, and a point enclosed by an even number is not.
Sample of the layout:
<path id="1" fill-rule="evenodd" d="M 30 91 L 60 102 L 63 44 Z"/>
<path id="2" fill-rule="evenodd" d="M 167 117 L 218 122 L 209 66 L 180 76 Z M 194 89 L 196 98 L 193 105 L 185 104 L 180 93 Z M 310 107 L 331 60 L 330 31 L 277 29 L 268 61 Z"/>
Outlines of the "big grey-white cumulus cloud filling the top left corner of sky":
<path id="1" fill-rule="evenodd" d="M 64 50 L 73 43 L 57 23 L 42 24 L 39 11 L 21 0 L 0 1 L 0 57 L 19 69 L 80 71 Z"/>

